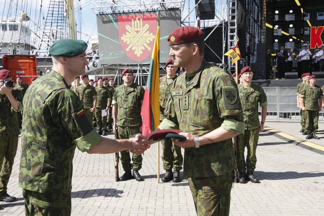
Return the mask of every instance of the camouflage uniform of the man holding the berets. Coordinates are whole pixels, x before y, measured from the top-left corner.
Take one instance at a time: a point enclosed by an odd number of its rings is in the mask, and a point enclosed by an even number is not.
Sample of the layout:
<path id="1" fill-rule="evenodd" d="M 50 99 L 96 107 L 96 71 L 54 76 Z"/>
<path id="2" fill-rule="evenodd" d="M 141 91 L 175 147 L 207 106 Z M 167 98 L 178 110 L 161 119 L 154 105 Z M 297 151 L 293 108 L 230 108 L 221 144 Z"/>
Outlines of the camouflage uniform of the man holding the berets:
<path id="1" fill-rule="evenodd" d="M 244 132 L 236 83 L 226 71 L 205 61 L 196 72 L 184 72 L 174 81 L 165 116 L 159 127 L 194 136 L 219 127 Z M 184 177 L 189 177 L 197 215 L 228 215 L 235 167 L 231 139 L 184 151 Z"/>

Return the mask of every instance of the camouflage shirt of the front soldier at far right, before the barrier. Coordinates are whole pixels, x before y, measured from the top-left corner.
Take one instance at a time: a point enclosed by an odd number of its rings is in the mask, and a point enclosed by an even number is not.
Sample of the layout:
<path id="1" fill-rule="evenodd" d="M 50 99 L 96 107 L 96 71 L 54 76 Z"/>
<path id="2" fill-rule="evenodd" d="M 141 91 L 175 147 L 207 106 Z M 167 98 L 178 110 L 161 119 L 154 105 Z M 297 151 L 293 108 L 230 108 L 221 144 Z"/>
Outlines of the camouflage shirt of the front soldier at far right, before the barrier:
<path id="1" fill-rule="evenodd" d="M 303 92 L 300 97 L 305 98 L 304 105 L 307 110 L 318 110 L 318 99 L 323 97 L 323 91 L 318 85 L 304 85 Z"/>

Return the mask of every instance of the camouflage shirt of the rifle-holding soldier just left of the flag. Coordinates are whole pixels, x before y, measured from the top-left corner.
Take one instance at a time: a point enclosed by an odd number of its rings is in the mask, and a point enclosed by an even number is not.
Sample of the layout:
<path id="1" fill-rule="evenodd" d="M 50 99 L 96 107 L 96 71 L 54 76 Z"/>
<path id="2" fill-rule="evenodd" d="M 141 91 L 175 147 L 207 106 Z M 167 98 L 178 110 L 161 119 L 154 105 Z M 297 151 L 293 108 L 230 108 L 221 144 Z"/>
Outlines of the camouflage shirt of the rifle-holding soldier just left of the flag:
<path id="1" fill-rule="evenodd" d="M 112 105 L 118 106 L 117 125 L 142 125 L 141 101 L 144 99 L 144 93 L 144 88 L 135 83 L 129 86 L 120 85 L 115 89 Z"/>

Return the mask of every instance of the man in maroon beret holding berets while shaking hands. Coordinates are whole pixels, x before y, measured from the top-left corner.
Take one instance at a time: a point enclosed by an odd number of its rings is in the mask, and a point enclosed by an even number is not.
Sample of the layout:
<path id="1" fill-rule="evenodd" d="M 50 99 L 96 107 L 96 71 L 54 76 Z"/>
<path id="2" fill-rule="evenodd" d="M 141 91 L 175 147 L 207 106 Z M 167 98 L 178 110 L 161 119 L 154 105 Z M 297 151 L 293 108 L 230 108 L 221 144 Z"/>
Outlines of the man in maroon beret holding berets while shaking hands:
<path id="1" fill-rule="evenodd" d="M 225 70 L 207 63 L 205 41 L 199 28 L 185 26 L 168 36 L 173 65 L 185 72 L 173 82 L 158 129 L 179 129 L 186 141 L 184 177 L 198 216 L 229 215 L 234 179 L 231 138 L 244 133 L 237 85 Z"/>

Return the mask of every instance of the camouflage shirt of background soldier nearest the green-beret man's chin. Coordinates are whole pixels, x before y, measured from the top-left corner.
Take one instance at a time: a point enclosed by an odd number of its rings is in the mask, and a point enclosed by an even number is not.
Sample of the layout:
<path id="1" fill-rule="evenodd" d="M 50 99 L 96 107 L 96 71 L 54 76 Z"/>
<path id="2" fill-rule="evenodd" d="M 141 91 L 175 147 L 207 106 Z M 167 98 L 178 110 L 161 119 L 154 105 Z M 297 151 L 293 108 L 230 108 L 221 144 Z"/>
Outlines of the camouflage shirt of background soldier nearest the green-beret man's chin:
<path id="1" fill-rule="evenodd" d="M 84 108 L 86 109 L 93 108 L 93 99 L 97 97 L 97 91 L 95 87 L 89 84 L 79 85 L 76 88 L 76 95 L 80 98 Z"/>

